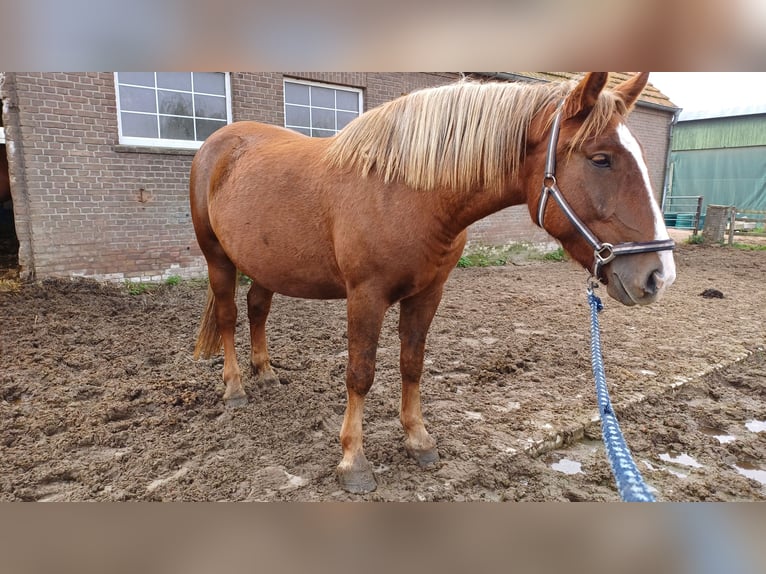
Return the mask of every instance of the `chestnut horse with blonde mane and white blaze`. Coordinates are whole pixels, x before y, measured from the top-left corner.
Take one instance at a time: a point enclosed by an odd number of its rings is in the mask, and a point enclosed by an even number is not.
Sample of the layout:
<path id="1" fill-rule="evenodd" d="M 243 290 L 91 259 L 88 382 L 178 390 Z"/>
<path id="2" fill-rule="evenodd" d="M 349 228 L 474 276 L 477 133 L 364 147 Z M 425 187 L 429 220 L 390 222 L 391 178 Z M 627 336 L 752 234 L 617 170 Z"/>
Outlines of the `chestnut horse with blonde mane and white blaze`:
<path id="1" fill-rule="evenodd" d="M 252 122 L 211 135 L 191 169 L 192 218 L 210 277 L 195 358 L 223 346 L 225 403 L 247 401 L 234 350 L 238 270 L 252 279 L 250 364 L 259 385 L 278 381 L 265 334 L 272 295 L 346 298 L 337 476 L 349 492 L 374 490 L 362 413 L 383 316 L 399 303 L 404 445 L 422 466 L 437 462 L 421 414 L 426 334 L 466 228 L 511 205 L 528 204 L 612 297 L 655 301 L 675 278 L 672 241 L 625 125 L 648 74 L 613 91 L 604 89 L 607 76 L 461 81 L 383 104 L 327 139 Z"/>

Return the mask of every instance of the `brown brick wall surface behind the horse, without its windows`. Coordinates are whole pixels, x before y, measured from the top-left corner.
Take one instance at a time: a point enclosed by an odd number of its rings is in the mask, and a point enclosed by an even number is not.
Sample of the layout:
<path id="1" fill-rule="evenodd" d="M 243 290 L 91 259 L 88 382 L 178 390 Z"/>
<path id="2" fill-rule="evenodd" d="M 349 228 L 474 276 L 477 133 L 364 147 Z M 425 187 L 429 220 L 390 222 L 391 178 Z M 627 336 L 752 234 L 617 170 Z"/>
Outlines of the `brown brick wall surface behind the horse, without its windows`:
<path id="1" fill-rule="evenodd" d="M 119 145 L 112 73 L 7 76 L 12 78 L 6 78 L 3 98 L 12 100 L 6 130 L 9 155 L 15 154 L 11 175 L 22 272 L 113 280 L 204 274 L 188 207 L 194 152 Z M 232 72 L 234 121 L 283 124 L 283 77 L 362 88 L 370 109 L 457 75 Z M 644 143 L 659 190 L 667 140 L 666 133 L 656 133 L 656 116 L 639 109 L 631 127 Z M 550 244 L 524 206 L 476 223 L 469 240 Z"/>

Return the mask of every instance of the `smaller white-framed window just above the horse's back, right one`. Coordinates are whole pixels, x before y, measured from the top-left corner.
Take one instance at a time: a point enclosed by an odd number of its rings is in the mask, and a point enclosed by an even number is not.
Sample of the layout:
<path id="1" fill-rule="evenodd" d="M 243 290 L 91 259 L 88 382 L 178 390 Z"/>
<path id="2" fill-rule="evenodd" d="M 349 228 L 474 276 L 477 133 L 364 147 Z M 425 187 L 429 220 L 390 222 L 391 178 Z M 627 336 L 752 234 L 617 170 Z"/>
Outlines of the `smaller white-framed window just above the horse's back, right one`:
<path id="1" fill-rule="evenodd" d="M 329 137 L 362 113 L 362 90 L 285 78 L 285 127 Z"/>

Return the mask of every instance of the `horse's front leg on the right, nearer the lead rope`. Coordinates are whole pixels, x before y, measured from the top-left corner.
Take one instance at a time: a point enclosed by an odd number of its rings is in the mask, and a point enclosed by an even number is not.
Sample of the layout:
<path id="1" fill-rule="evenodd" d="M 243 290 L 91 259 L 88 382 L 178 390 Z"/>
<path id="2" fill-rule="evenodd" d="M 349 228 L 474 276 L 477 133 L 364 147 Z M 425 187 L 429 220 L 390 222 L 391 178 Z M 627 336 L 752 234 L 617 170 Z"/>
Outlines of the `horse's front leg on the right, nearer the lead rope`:
<path id="1" fill-rule="evenodd" d="M 402 406 L 399 417 L 404 429 L 404 447 L 422 467 L 439 461 L 436 441 L 423 423 L 420 405 L 420 377 L 423 373 L 426 335 L 441 301 L 443 283 L 404 299 L 399 313 L 399 339 L 402 348 Z"/>

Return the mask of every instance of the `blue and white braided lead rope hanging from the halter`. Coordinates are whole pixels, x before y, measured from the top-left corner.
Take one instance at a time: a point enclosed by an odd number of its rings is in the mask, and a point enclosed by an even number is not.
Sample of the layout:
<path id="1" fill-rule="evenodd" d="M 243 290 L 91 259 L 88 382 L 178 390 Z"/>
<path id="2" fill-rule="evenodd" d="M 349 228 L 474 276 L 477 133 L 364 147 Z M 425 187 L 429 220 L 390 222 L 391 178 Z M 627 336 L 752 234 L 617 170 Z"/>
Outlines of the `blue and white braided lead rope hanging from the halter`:
<path id="1" fill-rule="evenodd" d="M 598 313 L 604 305 L 594 293 L 588 289 L 590 303 L 590 354 L 593 364 L 593 377 L 596 379 L 596 398 L 598 412 L 601 416 L 601 435 L 606 447 L 606 455 L 612 467 L 612 474 L 617 482 L 617 490 L 623 502 L 654 502 L 654 495 L 644 482 L 644 478 L 633 462 L 630 449 L 622 436 L 620 425 L 612 409 L 609 390 L 606 388 L 604 374 L 604 359 L 601 356 L 601 334 L 598 326 Z"/>

